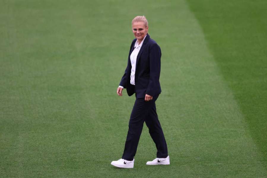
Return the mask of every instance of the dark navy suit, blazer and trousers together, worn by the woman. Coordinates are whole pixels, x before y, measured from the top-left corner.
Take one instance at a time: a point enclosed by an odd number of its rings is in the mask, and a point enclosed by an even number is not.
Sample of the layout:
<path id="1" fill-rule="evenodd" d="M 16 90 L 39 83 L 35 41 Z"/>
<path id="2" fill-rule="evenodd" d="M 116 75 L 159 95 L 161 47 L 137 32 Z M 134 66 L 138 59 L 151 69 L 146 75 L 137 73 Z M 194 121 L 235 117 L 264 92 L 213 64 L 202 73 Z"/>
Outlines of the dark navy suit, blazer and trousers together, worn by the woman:
<path id="1" fill-rule="evenodd" d="M 134 39 L 131 44 L 128 65 L 120 81 L 120 85 L 126 88 L 129 96 L 134 93 L 136 96 L 122 158 L 125 160 L 134 159 L 144 122 L 149 128 L 151 138 L 155 142 L 157 158 L 166 158 L 168 156 L 167 144 L 155 105 L 155 101 L 161 93 L 159 82 L 161 50 L 158 44 L 147 34 L 136 58 L 135 85 L 131 85 L 132 66 L 130 55 L 134 50 L 136 40 Z M 146 94 L 153 96 L 153 99 L 145 101 Z"/>

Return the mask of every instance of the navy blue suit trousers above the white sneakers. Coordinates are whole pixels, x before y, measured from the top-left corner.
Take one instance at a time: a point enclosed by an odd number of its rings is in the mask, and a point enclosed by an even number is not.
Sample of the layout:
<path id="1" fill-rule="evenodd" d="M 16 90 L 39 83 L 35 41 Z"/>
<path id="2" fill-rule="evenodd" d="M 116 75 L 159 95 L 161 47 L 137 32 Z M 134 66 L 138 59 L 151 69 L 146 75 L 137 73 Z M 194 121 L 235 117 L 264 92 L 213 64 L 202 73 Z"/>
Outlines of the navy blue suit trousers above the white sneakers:
<path id="1" fill-rule="evenodd" d="M 158 96 L 153 96 L 151 101 L 145 101 L 144 98 L 136 98 L 129 121 L 123 159 L 130 161 L 134 159 L 144 122 L 156 145 L 157 158 L 166 158 L 168 156 L 166 140 L 156 112 L 155 101 L 157 98 Z"/>

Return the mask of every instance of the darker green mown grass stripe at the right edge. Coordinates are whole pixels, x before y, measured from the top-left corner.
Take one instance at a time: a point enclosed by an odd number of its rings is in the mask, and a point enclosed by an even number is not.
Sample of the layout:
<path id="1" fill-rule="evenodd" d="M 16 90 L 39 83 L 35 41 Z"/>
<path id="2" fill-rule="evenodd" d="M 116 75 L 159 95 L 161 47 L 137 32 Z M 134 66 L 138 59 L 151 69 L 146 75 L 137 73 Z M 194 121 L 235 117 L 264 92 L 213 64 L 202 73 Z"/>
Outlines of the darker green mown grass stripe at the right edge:
<path id="1" fill-rule="evenodd" d="M 267 166 L 267 2 L 188 2 Z"/>

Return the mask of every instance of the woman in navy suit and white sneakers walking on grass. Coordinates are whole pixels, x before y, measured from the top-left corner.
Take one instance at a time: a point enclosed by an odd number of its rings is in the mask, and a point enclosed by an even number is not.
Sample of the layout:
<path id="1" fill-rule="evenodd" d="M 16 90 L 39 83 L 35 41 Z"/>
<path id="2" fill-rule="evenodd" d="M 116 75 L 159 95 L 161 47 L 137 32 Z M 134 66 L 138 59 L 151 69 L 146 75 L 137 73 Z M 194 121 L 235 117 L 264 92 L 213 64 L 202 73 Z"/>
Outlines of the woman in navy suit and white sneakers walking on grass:
<path id="1" fill-rule="evenodd" d="M 148 22 L 144 16 L 137 16 L 132 20 L 132 30 L 135 39 L 130 47 L 128 65 L 117 88 L 117 94 L 122 96 L 122 91 L 126 88 L 129 96 L 135 93 L 136 100 L 129 121 L 122 159 L 112 161 L 111 164 L 120 168 L 134 167 L 134 156 L 145 122 L 157 148 L 157 158 L 148 161 L 147 165 L 167 165 L 170 164 L 167 144 L 155 105 L 161 92 L 159 83 L 161 50 L 147 33 Z"/>

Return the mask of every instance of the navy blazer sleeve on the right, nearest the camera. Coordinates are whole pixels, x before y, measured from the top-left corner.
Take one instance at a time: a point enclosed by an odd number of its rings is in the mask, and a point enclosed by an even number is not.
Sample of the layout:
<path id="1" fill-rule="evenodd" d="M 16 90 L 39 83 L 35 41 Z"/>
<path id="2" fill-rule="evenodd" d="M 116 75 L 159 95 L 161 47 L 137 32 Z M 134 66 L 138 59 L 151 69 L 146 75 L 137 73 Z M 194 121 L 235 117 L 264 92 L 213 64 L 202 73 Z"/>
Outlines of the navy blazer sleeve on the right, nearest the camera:
<path id="1" fill-rule="evenodd" d="M 160 58 L 161 50 L 157 43 L 154 43 L 150 47 L 149 63 L 150 63 L 150 79 L 147 87 L 146 94 L 154 96 L 160 88 Z"/>

